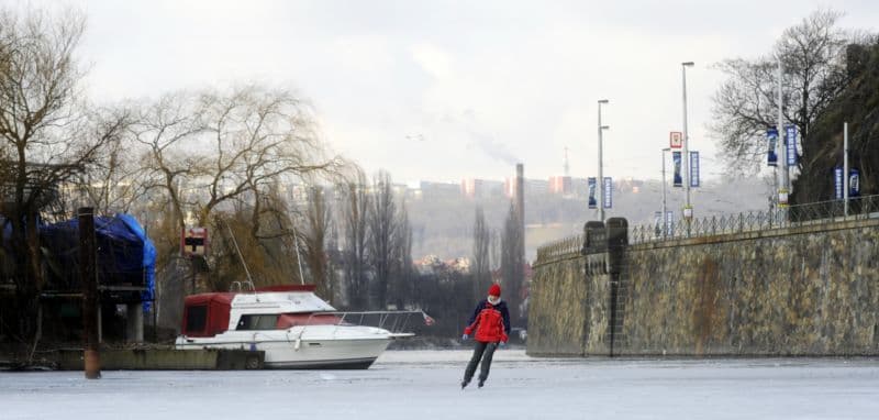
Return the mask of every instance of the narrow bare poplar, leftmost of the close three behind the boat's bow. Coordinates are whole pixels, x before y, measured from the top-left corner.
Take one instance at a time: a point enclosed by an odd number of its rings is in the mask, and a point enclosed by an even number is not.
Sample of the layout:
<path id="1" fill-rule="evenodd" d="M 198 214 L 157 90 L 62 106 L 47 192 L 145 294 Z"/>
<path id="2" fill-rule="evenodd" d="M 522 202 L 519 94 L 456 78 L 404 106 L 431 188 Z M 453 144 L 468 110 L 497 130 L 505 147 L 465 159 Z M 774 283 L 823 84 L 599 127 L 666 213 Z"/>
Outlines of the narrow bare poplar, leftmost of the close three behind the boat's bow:
<path id="1" fill-rule="evenodd" d="M 368 301 L 367 244 L 369 243 L 369 229 L 367 220 L 371 208 L 371 197 L 367 191 L 366 183 L 363 170 L 355 168 L 351 179 L 341 187 L 345 195 L 343 214 L 345 291 L 348 305 L 357 309 L 364 309 Z"/>

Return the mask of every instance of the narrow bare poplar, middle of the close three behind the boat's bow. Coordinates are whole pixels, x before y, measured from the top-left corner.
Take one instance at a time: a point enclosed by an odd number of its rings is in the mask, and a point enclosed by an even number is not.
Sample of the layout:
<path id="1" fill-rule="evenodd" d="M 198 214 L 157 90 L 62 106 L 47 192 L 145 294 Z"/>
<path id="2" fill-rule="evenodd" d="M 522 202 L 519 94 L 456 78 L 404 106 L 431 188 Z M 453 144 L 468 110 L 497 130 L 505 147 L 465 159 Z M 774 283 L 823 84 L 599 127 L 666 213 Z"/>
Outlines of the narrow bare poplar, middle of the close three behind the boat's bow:
<path id="1" fill-rule="evenodd" d="M 385 308 L 388 303 L 388 287 L 397 258 L 393 246 L 398 234 L 397 205 L 393 185 L 387 172 L 379 172 L 372 180 L 372 206 L 369 209 L 369 261 L 375 274 L 369 294 L 375 305 Z"/>

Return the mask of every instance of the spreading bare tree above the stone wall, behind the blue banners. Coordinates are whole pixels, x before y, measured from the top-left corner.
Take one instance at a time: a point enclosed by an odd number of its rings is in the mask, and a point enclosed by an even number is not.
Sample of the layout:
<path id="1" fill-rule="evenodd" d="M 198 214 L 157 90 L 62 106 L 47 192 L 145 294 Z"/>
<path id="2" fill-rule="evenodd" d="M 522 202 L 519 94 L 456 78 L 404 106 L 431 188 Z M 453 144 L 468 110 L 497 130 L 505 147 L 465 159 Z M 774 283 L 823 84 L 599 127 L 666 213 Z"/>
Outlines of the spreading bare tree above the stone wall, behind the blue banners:
<path id="1" fill-rule="evenodd" d="M 778 124 L 778 60 L 783 68 L 785 121 L 797 125 L 802 153 L 813 140 L 809 128 L 849 82 L 846 45 L 866 36 L 836 26 L 842 13 L 819 10 L 788 27 L 774 51 L 757 59 L 726 59 L 716 65 L 727 75 L 713 97 L 710 129 L 730 157 L 731 168 L 756 168 L 765 158 L 766 129 Z"/>

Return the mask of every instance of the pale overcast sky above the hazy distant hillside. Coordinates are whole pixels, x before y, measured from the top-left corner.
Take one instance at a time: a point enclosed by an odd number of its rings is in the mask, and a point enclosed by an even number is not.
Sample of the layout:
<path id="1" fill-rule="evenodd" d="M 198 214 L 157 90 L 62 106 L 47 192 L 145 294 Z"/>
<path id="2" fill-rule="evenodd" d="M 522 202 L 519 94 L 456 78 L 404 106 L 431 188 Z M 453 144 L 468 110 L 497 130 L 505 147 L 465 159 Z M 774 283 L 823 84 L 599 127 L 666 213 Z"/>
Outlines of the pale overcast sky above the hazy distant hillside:
<path id="1" fill-rule="evenodd" d="M 0 0 L 9 2 L 8 0 Z M 31 1 L 33 5 L 58 2 Z M 682 125 L 702 178 L 722 169 L 708 137 L 723 58 L 769 52 L 816 8 L 877 30 L 876 1 L 85 1 L 80 58 L 99 101 L 259 81 L 296 89 L 332 150 L 394 180 L 530 178 L 598 167 L 660 176 L 660 148 Z"/>

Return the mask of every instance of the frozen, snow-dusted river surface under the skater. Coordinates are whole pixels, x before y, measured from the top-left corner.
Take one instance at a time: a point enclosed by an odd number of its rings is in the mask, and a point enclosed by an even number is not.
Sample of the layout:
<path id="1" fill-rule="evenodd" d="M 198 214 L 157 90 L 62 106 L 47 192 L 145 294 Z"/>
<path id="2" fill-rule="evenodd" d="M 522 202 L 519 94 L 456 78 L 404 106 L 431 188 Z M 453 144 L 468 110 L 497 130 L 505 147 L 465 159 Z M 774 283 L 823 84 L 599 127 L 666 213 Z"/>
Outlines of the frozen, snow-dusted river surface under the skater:
<path id="1" fill-rule="evenodd" d="M 877 419 L 876 360 L 552 360 L 386 352 L 368 371 L 0 373 L 0 419 Z"/>

